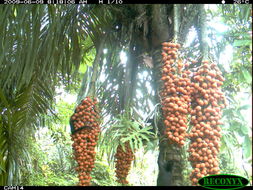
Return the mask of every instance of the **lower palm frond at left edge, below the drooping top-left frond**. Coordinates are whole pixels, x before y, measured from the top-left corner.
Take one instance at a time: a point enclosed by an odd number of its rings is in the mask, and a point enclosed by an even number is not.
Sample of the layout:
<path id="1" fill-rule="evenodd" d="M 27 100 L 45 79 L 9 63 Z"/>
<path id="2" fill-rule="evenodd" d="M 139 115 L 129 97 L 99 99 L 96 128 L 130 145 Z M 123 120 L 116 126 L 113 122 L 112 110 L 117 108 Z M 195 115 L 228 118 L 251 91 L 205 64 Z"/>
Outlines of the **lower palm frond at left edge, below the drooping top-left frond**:
<path id="1" fill-rule="evenodd" d="M 34 135 L 39 125 L 44 125 L 46 118 L 43 114 L 51 114 L 52 109 L 48 100 L 52 92 L 38 80 L 33 80 L 26 88 L 16 94 L 14 99 L 6 97 L 0 90 L 0 163 L 8 173 L 1 171 L 1 184 L 14 185 L 20 182 L 20 169 L 29 167 L 30 154 L 26 139 Z M 4 177 L 7 175 L 6 177 Z M 5 180 L 3 180 L 3 178 Z"/>

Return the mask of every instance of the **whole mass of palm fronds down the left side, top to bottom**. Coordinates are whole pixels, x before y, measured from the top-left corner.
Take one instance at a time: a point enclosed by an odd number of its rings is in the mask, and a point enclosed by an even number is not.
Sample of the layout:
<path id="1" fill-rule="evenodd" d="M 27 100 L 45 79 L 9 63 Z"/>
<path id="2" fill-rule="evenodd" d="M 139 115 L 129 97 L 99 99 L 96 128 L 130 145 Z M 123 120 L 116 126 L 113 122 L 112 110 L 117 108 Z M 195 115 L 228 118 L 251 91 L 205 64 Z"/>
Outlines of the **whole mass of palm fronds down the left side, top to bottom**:
<path id="1" fill-rule="evenodd" d="M 46 115 L 55 117 L 56 86 L 75 80 L 88 48 L 82 43 L 110 19 L 76 5 L 7 5 L 0 15 L 0 185 L 18 185 L 30 162 L 28 138 Z"/>

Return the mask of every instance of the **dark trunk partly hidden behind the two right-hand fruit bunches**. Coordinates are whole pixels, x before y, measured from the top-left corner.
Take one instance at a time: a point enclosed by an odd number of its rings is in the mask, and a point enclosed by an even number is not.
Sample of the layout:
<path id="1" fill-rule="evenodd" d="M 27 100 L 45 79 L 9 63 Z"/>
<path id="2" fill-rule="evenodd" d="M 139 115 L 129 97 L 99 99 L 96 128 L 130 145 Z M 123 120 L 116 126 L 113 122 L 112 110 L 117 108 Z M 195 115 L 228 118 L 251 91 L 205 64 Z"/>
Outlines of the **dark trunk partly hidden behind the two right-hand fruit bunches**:
<path id="1" fill-rule="evenodd" d="M 155 83 L 156 102 L 160 102 L 159 91 L 161 89 L 161 73 L 160 68 L 162 64 L 161 43 L 172 39 L 173 35 L 169 34 L 169 25 L 167 22 L 167 13 L 164 5 L 153 6 L 153 19 L 152 19 L 152 58 L 154 61 L 153 78 Z M 157 43 L 158 42 L 158 43 Z M 164 126 L 163 118 L 159 123 L 159 175 L 157 179 L 158 186 L 179 186 L 183 185 L 183 150 L 176 145 L 168 143 L 168 140 L 164 138 Z"/>

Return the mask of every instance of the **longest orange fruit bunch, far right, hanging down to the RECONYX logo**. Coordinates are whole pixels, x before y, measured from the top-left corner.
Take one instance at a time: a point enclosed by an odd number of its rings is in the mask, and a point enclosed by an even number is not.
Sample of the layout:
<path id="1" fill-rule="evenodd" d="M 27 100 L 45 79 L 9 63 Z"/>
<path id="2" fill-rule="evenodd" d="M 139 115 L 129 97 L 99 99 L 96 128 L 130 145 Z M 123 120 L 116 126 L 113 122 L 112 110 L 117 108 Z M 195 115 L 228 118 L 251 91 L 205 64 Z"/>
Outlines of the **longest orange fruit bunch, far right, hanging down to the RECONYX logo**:
<path id="1" fill-rule="evenodd" d="M 197 185 L 198 179 L 210 174 L 219 173 L 217 155 L 220 149 L 222 109 L 225 97 L 221 91 L 224 78 L 214 63 L 203 61 L 192 78 L 192 111 L 193 125 L 189 138 L 192 167 L 190 179 Z"/>

